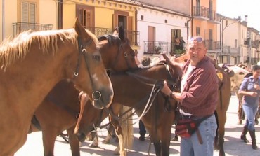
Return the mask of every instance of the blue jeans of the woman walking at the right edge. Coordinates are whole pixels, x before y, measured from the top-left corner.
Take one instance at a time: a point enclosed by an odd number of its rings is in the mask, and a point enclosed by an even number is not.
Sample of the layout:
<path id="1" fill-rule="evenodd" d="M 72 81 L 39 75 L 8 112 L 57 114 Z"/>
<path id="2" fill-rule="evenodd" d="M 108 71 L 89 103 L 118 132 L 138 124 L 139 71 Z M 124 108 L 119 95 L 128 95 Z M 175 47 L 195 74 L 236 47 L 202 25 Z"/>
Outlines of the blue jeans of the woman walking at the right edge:
<path id="1" fill-rule="evenodd" d="M 247 129 L 249 131 L 254 131 L 254 117 L 256 116 L 258 106 L 251 107 L 251 106 L 243 104 L 242 107 L 245 112 L 245 116 L 247 117 L 247 120 L 245 122 L 245 127 L 247 127 Z"/>

